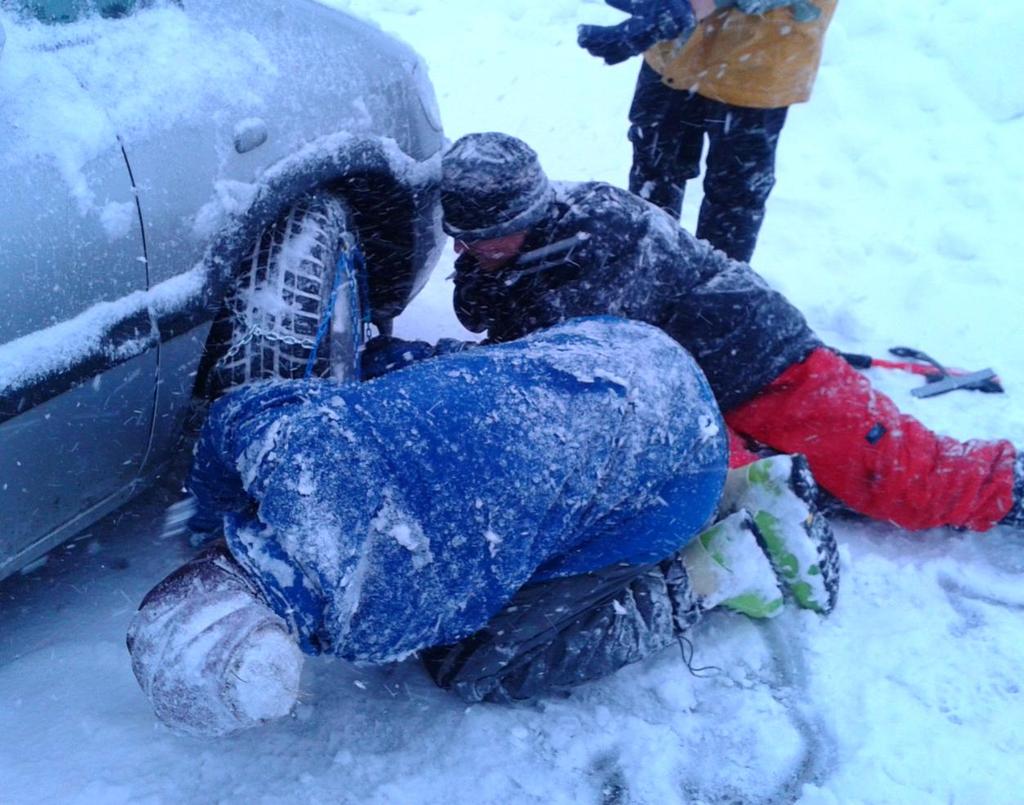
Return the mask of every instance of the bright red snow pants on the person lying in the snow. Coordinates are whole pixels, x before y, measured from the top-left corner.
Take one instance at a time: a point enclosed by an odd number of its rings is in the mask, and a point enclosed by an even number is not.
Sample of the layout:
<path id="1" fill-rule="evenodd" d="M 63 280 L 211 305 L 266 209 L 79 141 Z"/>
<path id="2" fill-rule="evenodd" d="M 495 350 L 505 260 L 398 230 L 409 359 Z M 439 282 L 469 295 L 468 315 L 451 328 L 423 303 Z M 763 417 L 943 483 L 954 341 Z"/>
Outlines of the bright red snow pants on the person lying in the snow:
<path id="1" fill-rule="evenodd" d="M 903 528 L 986 531 L 1013 505 L 1013 444 L 934 433 L 828 349 L 790 367 L 725 421 L 773 450 L 803 453 L 822 489 Z M 757 458 L 737 442 L 733 466 Z"/>

